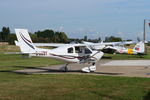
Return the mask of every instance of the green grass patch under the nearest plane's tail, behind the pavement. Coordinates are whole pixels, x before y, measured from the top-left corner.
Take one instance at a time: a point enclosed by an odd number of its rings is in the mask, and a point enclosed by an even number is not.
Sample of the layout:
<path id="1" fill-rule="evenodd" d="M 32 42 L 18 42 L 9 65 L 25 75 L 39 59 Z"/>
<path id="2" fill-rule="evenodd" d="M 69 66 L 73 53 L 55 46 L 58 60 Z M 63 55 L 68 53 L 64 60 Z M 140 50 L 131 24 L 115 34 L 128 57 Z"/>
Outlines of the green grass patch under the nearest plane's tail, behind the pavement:
<path id="1" fill-rule="evenodd" d="M 15 70 L 22 67 L 45 67 L 50 65 L 63 64 L 61 61 L 57 61 L 50 58 L 23 58 L 17 54 L 3 54 L 0 53 L 0 67 L 1 70 Z"/>

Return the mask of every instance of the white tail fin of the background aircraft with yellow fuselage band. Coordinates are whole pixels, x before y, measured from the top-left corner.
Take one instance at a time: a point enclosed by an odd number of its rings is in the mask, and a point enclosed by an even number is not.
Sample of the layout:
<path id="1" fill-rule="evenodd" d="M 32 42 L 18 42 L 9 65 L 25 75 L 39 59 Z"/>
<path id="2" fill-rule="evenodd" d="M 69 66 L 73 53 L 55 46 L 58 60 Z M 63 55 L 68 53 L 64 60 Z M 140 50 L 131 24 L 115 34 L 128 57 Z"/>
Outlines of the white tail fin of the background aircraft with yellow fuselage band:
<path id="1" fill-rule="evenodd" d="M 137 51 L 137 53 L 144 53 L 145 52 L 145 43 L 143 41 L 137 43 L 135 47 L 133 48 Z"/>

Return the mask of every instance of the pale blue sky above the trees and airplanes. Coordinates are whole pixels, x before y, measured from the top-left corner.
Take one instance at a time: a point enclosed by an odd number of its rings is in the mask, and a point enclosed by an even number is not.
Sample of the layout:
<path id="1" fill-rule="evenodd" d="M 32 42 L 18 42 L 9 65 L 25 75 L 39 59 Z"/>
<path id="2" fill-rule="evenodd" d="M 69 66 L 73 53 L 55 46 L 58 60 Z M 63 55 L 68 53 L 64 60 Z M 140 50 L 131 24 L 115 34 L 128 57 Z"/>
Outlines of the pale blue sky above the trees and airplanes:
<path id="1" fill-rule="evenodd" d="M 149 0 L 0 0 L 0 28 L 53 29 L 70 38 L 141 39 Z M 149 21 L 147 20 L 147 23 Z M 146 24 L 146 39 L 150 28 Z"/>

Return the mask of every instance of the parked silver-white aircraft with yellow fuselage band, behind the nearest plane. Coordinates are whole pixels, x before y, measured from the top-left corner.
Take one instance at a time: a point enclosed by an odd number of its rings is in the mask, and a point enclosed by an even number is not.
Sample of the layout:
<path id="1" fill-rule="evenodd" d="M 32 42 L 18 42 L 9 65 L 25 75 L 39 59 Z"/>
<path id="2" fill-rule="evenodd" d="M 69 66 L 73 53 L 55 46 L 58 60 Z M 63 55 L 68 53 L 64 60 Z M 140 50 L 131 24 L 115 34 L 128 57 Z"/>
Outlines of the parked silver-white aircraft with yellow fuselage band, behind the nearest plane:
<path id="1" fill-rule="evenodd" d="M 121 42 L 109 42 L 109 43 L 91 43 L 91 42 L 83 42 L 91 49 L 101 50 L 104 53 L 118 53 L 118 54 L 136 54 L 142 55 L 145 53 L 145 43 L 143 41 L 138 42 L 133 49 L 125 48 L 125 44 L 134 44 L 133 41 L 127 41 L 124 43 Z"/>

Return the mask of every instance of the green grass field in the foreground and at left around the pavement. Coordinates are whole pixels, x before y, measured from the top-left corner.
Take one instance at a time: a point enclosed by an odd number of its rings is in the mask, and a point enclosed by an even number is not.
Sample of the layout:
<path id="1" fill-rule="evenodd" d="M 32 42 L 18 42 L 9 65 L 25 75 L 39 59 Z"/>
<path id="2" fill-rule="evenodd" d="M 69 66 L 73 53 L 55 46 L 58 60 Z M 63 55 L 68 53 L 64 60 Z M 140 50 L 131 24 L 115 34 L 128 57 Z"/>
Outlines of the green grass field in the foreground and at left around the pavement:
<path id="1" fill-rule="evenodd" d="M 150 100 L 149 78 L 19 74 L 13 70 L 62 62 L 49 58 L 24 59 L 20 55 L 3 54 L 2 49 L 0 100 Z M 6 52 L 17 51 L 5 49 Z"/>

